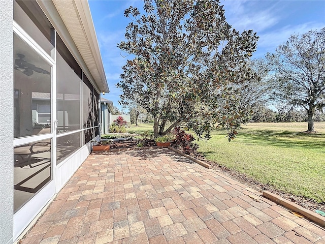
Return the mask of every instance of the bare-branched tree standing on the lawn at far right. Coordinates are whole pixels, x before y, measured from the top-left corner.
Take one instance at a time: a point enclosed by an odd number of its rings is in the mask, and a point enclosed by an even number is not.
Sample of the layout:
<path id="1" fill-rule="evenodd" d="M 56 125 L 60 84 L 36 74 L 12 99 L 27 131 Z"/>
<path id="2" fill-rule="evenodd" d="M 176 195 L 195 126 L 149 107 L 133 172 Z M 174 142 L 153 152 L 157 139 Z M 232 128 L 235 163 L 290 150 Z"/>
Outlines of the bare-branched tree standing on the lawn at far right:
<path id="1" fill-rule="evenodd" d="M 308 114 L 308 132 L 314 131 L 315 111 L 325 107 L 325 28 L 291 35 L 267 59 L 277 75 L 281 103 L 302 106 Z"/>

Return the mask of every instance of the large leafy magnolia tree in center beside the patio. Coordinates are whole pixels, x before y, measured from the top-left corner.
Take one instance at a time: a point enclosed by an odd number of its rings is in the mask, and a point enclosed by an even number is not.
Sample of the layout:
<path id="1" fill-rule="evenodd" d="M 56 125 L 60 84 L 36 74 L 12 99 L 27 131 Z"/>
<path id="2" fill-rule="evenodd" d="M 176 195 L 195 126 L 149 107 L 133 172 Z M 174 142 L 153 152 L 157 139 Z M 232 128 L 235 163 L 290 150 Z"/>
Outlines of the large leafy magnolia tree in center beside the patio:
<path id="1" fill-rule="evenodd" d="M 121 102 L 136 100 L 152 114 L 155 137 L 182 123 L 202 136 L 217 123 L 233 138 L 241 121 L 235 84 L 248 73 L 256 33 L 233 29 L 218 0 L 143 2 L 144 14 L 124 12 L 132 22 L 118 47 L 134 58 L 117 83 Z"/>

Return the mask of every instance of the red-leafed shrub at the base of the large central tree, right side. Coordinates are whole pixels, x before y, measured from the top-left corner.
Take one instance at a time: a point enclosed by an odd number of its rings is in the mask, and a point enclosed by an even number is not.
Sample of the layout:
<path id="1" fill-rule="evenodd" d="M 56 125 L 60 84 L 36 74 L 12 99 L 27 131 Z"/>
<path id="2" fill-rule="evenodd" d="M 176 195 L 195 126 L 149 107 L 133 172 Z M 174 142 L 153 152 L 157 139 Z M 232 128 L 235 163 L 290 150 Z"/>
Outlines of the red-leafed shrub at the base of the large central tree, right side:
<path id="1" fill-rule="evenodd" d="M 179 126 L 174 128 L 175 139 L 172 140 L 171 146 L 183 149 L 184 154 L 196 155 L 199 145 L 194 143 L 194 137 L 191 134 L 182 131 Z"/>

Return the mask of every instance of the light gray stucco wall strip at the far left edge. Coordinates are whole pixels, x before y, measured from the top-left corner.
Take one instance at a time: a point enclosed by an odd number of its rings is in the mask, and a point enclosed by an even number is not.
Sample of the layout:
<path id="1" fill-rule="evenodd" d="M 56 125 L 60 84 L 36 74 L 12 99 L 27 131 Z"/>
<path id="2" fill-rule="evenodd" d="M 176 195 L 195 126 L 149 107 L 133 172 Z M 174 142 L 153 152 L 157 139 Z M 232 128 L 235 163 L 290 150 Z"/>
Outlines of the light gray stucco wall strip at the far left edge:
<path id="1" fill-rule="evenodd" d="M 0 243 L 13 243 L 13 1 L 0 0 Z"/>

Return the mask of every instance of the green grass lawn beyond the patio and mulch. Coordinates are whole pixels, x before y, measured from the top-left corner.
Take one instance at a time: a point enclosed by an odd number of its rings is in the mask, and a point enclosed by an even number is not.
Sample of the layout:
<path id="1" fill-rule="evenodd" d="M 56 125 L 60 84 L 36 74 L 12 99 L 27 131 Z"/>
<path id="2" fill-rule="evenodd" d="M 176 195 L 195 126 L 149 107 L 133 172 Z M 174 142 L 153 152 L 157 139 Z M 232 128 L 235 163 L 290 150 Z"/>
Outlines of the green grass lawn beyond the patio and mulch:
<path id="1" fill-rule="evenodd" d="M 228 142 L 225 130 L 200 140 L 199 151 L 217 162 L 263 184 L 298 196 L 325 202 L 325 123 L 315 123 L 316 134 L 302 133 L 307 123 L 250 123 Z M 128 132 L 152 132 L 152 124 Z"/>

